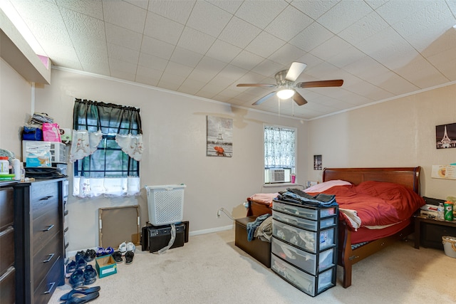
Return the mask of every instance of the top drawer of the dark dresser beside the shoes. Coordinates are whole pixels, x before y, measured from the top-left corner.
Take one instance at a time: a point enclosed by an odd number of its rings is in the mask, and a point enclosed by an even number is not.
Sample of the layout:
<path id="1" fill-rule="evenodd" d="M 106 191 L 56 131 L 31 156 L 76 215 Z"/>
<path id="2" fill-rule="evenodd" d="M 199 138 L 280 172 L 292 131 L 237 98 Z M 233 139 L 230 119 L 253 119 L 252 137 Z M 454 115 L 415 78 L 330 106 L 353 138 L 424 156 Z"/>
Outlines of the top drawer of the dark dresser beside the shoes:
<path id="1" fill-rule="evenodd" d="M 31 212 L 33 219 L 38 219 L 51 208 L 50 204 L 58 204 L 58 184 L 50 182 L 40 187 L 31 187 Z"/>

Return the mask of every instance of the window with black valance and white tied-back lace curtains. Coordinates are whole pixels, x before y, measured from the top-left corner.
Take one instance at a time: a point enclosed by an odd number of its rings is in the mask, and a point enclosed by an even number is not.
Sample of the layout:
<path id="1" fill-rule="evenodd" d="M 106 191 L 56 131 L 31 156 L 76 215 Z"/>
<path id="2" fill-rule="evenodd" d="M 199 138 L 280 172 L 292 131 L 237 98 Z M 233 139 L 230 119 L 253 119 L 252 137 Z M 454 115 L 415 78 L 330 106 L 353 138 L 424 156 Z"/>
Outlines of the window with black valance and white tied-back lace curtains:
<path id="1" fill-rule="evenodd" d="M 76 99 L 73 109 L 73 195 L 139 193 L 139 109 Z"/>

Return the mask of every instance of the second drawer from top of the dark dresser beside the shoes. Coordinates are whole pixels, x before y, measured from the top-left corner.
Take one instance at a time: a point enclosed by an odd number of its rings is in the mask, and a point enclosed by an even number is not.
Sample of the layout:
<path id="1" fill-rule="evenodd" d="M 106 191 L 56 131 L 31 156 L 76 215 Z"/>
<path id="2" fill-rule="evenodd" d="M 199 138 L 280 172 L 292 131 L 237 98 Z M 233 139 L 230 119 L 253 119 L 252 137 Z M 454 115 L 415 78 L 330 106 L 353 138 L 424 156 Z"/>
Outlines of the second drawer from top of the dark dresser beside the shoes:
<path id="1" fill-rule="evenodd" d="M 58 201 L 54 201 L 49 204 L 46 213 L 33 221 L 33 248 L 39 247 L 39 243 L 47 243 L 51 236 L 61 229 Z"/>

